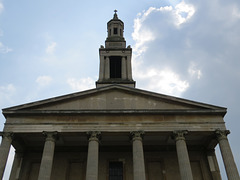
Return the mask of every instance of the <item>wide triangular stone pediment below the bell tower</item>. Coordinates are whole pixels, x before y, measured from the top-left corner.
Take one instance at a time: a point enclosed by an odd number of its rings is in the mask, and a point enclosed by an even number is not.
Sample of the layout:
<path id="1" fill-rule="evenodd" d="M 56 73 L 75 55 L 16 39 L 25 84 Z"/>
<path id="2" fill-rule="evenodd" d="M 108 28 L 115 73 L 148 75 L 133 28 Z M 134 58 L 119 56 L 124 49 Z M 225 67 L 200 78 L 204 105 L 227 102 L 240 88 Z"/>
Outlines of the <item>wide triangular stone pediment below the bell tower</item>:
<path id="1" fill-rule="evenodd" d="M 15 106 L 7 111 L 91 111 L 91 110 L 142 110 L 187 111 L 220 110 L 225 108 L 189 101 L 163 94 L 111 85 L 65 96 Z"/>

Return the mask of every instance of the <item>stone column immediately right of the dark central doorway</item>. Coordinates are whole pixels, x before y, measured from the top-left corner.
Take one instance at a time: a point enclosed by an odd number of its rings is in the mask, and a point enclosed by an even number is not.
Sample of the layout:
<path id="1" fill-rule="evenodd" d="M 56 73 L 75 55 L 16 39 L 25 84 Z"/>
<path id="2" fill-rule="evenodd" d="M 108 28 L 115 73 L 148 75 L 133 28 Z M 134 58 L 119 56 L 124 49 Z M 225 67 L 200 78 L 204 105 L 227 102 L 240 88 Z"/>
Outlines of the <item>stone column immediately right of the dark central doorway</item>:
<path id="1" fill-rule="evenodd" d="M 133 179 L 145 180 L 145 164 L 143 154 L 143 131 L 133 131 L 130 133 L 133 146 Z"/>

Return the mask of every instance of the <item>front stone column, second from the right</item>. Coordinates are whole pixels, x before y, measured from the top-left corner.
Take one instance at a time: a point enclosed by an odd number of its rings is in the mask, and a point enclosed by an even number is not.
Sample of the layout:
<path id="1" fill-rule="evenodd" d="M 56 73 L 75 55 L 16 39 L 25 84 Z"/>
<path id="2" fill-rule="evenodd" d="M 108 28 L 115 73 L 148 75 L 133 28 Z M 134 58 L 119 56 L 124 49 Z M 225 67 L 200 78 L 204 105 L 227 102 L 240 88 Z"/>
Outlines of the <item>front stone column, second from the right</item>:
<path id="1" fill-rule="evenodd" d="M 178 156 L 178 165 L 181 175 L 181 180 L 193 180 L 191 164 L 188 156 L 185 135 L 188 131 L 174 131 L 173 135 L 176 141 L 176 149 Z"/>

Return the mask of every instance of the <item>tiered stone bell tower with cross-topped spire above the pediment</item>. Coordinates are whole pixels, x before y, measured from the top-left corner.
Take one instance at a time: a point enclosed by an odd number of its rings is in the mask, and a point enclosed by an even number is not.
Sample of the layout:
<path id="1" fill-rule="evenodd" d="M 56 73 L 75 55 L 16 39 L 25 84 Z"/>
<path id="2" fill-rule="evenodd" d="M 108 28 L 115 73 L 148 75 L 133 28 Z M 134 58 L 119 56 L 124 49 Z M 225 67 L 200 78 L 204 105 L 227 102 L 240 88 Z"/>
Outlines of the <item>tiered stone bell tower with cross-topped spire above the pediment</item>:
<path id="1" fill-rule="evenodd" d="M 105 47 L 99 49 L 100 69 L 96 86 L 102 87 L 111 84 L 135 87 L 132 79 L 132 48 L 126 47 L 123 36 L 124 23 L 118 19 L 117 10 L 113 19 L 107 23 L 108 36 Z"/>

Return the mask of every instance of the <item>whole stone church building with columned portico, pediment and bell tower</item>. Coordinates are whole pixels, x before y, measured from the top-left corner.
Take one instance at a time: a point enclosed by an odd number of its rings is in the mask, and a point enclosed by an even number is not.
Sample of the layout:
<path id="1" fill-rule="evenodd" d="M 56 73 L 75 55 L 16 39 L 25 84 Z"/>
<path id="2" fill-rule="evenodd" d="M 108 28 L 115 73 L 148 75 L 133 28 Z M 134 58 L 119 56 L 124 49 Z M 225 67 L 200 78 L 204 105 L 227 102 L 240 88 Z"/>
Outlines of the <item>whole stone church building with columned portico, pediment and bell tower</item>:
<path id="1" fill-rule="evenodd" d="M 0 179 L 239 180 L 226 108 L 135 88 L 132 48 L 115 11 L 99 49 L 96 88 L 3 109 Z"/>

